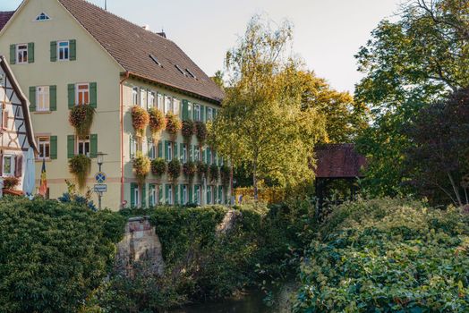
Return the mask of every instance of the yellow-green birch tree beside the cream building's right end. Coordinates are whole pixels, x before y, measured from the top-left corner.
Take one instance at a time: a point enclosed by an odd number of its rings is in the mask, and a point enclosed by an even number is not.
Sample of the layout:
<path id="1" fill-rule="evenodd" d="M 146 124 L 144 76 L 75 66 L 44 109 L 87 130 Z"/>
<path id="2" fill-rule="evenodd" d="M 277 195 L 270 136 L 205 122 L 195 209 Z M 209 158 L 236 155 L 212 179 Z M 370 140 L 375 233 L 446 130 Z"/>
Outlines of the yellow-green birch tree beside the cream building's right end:
<path id="1" fill-rule="evenodd" d="M 323 116 L 302 106 L 298 80 L 292 80 L 301 65 L 286 56 L 291 39 L 288 22 L 272 30 L 255 16 L 226 54 L 229 87 L 210 126 L 212 143 L 234 165 L 251 167 L 255 199 L 262 178 L 280 185 L 311 178 L 314 144 L 325 137 Z"/>

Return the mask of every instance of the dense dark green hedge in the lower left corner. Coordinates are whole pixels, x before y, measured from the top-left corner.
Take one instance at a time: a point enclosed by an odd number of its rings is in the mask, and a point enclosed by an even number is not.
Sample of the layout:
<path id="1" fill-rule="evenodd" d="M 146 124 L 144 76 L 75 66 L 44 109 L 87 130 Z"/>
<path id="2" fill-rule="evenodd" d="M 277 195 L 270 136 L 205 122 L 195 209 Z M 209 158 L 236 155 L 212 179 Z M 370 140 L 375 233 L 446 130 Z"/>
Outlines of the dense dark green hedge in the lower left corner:
<path id="1" fill-rule="evenodd" d="M 124 218 L 55 200 L 0 200 L 0 306 L 74 312 L 102 283 Z"/>

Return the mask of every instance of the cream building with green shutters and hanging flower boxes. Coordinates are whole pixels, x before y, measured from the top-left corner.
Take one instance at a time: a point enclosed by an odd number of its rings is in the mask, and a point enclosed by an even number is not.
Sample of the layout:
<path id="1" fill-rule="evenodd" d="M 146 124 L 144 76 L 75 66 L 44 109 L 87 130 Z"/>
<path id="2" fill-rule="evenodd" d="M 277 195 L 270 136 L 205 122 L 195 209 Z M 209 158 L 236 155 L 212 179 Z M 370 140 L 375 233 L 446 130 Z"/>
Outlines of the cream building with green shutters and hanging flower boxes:
<path id="1" fill-rule="evenodd" d="M 1 21 L 0 14 L 0 54 L 10 55 L 21 89 L 29 90 L 39 153 L 47 158 L 50 198 L 66 190 L 65 180 L 73 180 L 68 162 L 76 154 L 91 157 L 87 185 L 93 187 L 96 156 L 102 152 L 107 154 L 102 167 L 107 174 L 103 207 L 226 202 L 228 190 L 220 181 L 196 178 L 190 185 L 182 173 L 174 185 L 166 176 L 150 173 L 139 186 L 132 172 L 137 149 L 151 158 L 178 157 L 184 162 L 196 159 L 198 147 L 195 137 L 186 146 L 181 133 L 173 142 L 166 131 L 155 147 L 149 138 L 136 145 L 132 106 L 155 106 L 182 120 L 205 123 L 216 116 L 224 96 L 165 34 L 141 28 L 83 0 L 24 0 L 14 13 L 4 13 L 4 25 Z M 77 105 L 96 108 L 85 140 L 74 135 L 69 123 L 70 109 Z M 146 133 L 149 137 L 149 131 Z M 199 151 L 199 159 L 209 164 L 223 162 L 207 147 Z M 38 159 L 37 177 L 40 167 Z M 97 195 L 94 197 L 96 202 Z"/>

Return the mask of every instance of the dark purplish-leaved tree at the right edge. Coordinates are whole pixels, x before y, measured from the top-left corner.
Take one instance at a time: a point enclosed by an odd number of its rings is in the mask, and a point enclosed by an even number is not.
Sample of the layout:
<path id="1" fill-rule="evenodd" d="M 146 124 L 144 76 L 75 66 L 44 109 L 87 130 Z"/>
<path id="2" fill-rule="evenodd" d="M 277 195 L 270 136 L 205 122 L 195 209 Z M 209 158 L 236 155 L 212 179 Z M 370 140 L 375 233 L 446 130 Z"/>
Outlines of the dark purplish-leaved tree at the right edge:
<path id="1" fill-rule="evenodd" d="M 426 106 L 408 124 L 405 150 L 409 183 L 434 204 L 468 204 L 469 89 Z"/>

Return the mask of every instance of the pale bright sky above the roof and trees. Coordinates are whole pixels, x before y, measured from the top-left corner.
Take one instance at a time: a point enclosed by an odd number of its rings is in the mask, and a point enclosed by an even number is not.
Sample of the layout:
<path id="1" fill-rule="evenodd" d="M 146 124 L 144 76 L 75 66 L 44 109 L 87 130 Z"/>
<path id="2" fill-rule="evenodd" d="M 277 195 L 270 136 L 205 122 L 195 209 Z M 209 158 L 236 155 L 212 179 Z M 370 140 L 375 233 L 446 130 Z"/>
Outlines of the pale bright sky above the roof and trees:
<path id="1" fill-rule="evenodd" d="M 354 91 L 362 74 L 354 55 L 379 21 L 392 18 L 402 0 L 107 0 L 107 10 L 150 30 L 165 30 L 209 76 L 223 70 L 254 14 L 294 24 L 294 52 L 308 69 L 338 90 Z M 90 0 L 104 7 L 105 0 Z M 0 11 L 21 0 L 1 0 Z"/>

